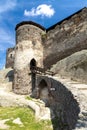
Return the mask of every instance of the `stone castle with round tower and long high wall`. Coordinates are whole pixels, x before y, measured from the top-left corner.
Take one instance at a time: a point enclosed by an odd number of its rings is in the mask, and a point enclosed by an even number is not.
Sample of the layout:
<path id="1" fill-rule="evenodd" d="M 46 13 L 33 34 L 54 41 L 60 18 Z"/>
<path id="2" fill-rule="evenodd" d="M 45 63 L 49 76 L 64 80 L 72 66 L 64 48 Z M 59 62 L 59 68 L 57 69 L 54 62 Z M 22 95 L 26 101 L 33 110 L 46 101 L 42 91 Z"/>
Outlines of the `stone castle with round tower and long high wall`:
<path id="1" fill-rule="evenodd" d="M 16 45 L 7 50 L 6 68 L 14 69 L 13 91 L 29 94 L 32 90 L 31 66 L 47 70 L 57 61 L 87 49 L 87 8 L 48 29 L 35 22 L 24 21 L 17 24 L 15 30 Z M 45 85 L 51 86 L 46 77 L 44 80 L 48 82 Z"/>

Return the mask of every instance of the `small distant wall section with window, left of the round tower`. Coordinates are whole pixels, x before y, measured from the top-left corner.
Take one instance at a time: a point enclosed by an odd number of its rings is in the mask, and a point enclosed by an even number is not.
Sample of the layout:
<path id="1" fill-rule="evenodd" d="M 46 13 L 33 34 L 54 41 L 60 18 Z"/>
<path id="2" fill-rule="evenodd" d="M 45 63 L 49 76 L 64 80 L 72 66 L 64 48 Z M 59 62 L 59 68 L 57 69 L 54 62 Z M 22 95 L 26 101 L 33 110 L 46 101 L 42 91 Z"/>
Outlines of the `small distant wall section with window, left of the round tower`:
<path id="1" fill-rule="evenodd" d="M 13 67 L 14 65 L 15 50 L 14 48 L 8 48 L 6 52 L 6 68 Z"/>

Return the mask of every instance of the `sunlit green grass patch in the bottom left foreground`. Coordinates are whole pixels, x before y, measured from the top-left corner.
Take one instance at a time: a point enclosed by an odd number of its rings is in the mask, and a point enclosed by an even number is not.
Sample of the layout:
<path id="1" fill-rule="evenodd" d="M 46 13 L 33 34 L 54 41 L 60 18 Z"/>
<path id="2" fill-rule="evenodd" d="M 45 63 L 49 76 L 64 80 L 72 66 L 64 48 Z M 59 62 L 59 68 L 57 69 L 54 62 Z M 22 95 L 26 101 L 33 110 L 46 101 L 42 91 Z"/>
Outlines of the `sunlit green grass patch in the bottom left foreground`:
<path id="1" fill-rule="evenodd" d="M 23 125 L 13 123 L 18 117 Z M 6 122 L 10 126 L 9 130 L 52 130 L 51 121 L 37 121 L 34 112 L 29 108 L 0 107 L 0 120 L 3 119 L 10 119 Z"/>

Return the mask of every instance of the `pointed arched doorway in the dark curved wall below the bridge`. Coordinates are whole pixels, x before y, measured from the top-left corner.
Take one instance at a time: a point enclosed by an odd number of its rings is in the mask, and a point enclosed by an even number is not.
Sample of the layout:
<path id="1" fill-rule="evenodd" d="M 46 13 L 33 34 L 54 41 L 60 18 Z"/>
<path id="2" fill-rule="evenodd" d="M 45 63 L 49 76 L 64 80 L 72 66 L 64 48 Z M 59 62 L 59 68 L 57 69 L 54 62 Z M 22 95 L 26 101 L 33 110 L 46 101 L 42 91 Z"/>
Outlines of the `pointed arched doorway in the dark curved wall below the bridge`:
<path id="1" fill-rule="evenodd" d="M 48 86 L 47 83 L 44 79 L 42 79 L 39 83 L 39 98 L 41 100 L 43 100 L 45 103 L 48 102 L 48 95 L 49 95 L 49 91 L 48 91 Z"/>

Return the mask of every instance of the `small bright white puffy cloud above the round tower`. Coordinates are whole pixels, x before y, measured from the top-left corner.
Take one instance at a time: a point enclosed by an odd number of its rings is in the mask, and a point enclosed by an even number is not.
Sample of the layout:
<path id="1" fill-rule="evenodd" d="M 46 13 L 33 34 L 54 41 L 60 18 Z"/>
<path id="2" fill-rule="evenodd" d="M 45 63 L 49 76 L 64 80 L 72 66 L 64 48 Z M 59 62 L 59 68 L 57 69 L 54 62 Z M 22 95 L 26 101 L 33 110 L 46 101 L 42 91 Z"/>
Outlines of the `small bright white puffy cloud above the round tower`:
<path id="1" fill-rule="evenodd" d="M 26 10 L 24 11 L 25 16 L 46 16 L 46 17 L 52 17 L 55 13 L 55 10 L 52 8 L 52 5 L 46 5 L 42 4 L 39 5 L 36 9 L 32 8 L 30 11 Z"/>

